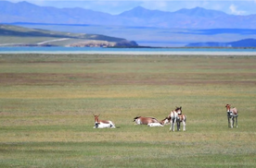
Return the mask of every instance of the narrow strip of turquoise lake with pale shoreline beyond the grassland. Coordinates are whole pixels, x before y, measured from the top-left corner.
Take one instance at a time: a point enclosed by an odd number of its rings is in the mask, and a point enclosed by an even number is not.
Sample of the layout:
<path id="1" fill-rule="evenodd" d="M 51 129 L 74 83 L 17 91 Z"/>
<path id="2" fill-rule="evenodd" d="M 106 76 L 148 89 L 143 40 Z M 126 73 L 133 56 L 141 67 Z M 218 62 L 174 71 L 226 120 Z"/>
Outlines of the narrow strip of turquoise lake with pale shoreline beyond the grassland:
<path id="1" fill-rule="evenodd" d="M 256 49 L 0 47 L 0 54 L 253 54 Z"/>

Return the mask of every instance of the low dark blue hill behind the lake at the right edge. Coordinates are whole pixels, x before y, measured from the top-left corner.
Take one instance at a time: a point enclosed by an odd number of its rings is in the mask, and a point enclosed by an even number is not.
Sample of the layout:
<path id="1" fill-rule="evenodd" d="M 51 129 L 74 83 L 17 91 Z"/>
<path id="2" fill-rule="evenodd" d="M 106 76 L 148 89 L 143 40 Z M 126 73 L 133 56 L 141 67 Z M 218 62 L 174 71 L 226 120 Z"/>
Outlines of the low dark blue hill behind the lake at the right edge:
<path id="1" fill-rule="evenodd" d="M 237 42 L 193 42 L 186 47 L 256 47 L 256 39 L 244 39 Z"/>

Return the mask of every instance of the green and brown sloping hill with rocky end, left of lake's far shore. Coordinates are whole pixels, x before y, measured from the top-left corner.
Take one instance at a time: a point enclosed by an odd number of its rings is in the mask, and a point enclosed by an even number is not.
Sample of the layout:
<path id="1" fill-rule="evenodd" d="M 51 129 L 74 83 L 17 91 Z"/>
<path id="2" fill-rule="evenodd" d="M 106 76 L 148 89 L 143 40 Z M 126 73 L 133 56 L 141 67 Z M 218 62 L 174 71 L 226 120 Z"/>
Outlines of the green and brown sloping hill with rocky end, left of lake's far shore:
<path id="1" fill-rule="evenodd" d="M 0 24 L 0 46 L 136 47 L 136 42 L 98 34 L 29 29 Z"/>

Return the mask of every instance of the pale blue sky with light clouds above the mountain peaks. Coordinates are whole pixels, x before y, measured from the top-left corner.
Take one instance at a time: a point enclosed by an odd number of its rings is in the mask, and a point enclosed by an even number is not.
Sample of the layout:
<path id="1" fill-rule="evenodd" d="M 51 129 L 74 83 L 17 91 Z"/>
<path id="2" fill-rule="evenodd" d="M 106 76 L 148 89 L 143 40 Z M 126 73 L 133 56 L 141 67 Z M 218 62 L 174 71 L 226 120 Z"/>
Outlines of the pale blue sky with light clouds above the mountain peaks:
<path id="1" fill-rule="evenodd" d="M 7 0 L 21 2 L 24 0 Z M 37 6 L 82 7 L 112 15 L 120 14 L 136 6 L 151 10 L 174 12 L 181 8 L 203 7 L 221 10 L 232 15 L 256 14 L 256 0 L 26 0 Z"/>

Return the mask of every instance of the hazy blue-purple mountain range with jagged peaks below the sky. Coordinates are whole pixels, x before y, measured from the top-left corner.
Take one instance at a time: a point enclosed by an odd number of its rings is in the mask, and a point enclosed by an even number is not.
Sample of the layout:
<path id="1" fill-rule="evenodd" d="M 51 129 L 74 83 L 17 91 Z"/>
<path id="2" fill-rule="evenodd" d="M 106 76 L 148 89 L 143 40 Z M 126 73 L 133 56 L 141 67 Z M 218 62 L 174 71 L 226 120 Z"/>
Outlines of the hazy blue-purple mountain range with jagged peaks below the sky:
<path id="1" fill-rule="evenodd" d="M 183 29 L 256 29 L 256 15 L 236 16 L 202 7 L 180 9 L 175 12 L 134 7 L 119 15 L 84 8 L 36 6 L 26 1 L 11 3 L 0 0 L 1 23 L 48 23 L 116 25 L 131 27 L 159 27 Z"/>

